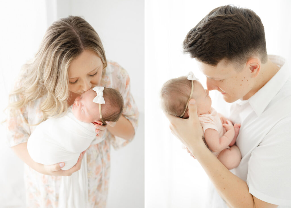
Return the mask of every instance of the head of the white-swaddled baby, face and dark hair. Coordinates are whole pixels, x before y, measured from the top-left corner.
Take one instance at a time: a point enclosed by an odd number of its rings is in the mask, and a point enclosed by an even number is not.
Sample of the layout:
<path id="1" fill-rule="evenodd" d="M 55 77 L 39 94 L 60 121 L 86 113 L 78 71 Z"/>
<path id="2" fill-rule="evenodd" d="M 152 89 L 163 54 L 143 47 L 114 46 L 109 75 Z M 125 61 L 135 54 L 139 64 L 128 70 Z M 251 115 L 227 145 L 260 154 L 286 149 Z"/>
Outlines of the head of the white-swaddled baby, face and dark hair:
<path id="1" fill-rule="evenodd" d="M 76 119 L 86 123 L 101 121 L 100 104 L 93 102 L 97 93 L 93 89 L 89 89 L 75 99 L 72 112 Z M 105 125 L 105 121 L 117 121 L 119 119 L 123 111 L 123 98 L 117 90 L 106 87 L 103 90 L 103 98 L 105 103 L 101 104 L 101 114 L 102 124 Z"/>

